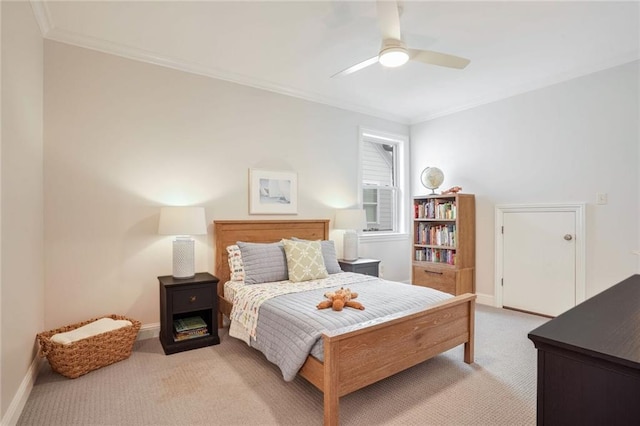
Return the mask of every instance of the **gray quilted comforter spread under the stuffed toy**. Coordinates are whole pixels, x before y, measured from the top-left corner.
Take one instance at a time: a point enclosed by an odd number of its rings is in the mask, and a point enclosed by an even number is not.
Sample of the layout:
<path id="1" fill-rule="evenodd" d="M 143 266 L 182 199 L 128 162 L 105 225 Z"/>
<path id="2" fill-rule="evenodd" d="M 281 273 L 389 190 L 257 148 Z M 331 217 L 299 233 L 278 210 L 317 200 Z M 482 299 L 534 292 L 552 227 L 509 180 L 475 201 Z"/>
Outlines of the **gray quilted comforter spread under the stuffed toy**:
<path id="1" fill-rule="evenodd" d="M 268 300 L 260 307 L 256 340 L 252 340 L 251 346 L 280 367 L 284 380 L 291 381 L 309 354 L 322 361 L 323 331 L 422 309 L 453 297 L 430 288 L 367 275 L 362 275 L 361 282 L 349 284 L 349 288 L 358 293 L 356 300 L 365 306 L 365 310 L 316 309 L 316 305 L 324 300 L 324 294 L 337 288 L 285 294 Z"/>

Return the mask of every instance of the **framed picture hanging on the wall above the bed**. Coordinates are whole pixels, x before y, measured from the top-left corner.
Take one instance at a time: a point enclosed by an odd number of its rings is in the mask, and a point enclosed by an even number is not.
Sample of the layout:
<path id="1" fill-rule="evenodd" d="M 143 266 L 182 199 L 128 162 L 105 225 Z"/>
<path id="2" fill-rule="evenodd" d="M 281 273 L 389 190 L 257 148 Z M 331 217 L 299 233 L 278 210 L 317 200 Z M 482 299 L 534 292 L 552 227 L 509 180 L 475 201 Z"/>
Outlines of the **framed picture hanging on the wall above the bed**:
<path id="1" fill-rule="evenodd" d="M 297 214 L 298 175 L 249 169 L 249 214 Z"/>

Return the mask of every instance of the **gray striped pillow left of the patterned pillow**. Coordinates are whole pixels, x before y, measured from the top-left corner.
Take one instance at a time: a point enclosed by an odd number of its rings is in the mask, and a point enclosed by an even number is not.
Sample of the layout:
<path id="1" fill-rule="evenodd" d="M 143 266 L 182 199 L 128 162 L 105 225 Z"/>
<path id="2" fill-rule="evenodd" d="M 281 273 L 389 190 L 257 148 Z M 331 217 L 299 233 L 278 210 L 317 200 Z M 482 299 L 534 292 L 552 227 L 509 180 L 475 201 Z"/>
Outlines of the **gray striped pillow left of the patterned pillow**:
<path id="1" fill-rule="evenodd" d="M 261 284 L 289 279 L 282 243 L 237 242 L 242 253 L 244 283 Z"/>

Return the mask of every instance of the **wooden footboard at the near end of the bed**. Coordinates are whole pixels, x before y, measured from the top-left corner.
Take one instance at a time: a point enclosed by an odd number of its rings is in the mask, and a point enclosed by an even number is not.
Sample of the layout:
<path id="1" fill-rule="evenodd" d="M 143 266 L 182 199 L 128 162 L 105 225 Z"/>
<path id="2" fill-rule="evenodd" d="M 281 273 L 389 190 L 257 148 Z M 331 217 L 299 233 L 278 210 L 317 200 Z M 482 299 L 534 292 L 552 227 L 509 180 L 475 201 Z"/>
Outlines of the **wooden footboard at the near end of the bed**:
<path id="1" fill-rule="evenodd" d="M 473 362 L 473 294 L 426 310 L 323 335 L 324 363 L 309 357 L 300 375 L 324 393 L 324 424 L 337 425 L 339 398 L 464 344 Z"/>

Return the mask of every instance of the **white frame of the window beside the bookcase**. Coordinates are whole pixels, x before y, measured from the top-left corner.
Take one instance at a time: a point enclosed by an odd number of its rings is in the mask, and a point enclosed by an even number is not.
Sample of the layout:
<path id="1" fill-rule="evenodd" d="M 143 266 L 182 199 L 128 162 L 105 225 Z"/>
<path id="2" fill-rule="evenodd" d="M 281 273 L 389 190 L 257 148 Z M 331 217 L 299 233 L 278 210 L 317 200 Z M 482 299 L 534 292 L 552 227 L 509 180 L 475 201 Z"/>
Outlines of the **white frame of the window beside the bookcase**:
<path id="1" fill-rule="evenodd" d="M 409 183 L 408 173 L 408 137 L 405 135 L 383 132 L 371 128 L 360 127 L 359 129 L 359 158 L 358 158 L 358 202 L 364 208 L 364 189 L 377 188 L 377 185 L 367 185 L 363 180 L 363 153 L 364 143 L 374 142 L 380 144 L 393 145 L 395 147 L 395 185 L 394 185 L 394 218 L 393 230 L 386 231 L 363 231 L 360 237 L 366 240 L 390 240 L 404 238 L 407 235 L 407 185 Z M 379 196 L 379 194 L 378 194 Z M 379 216 L 378 216 L 379 217 Z"/>

